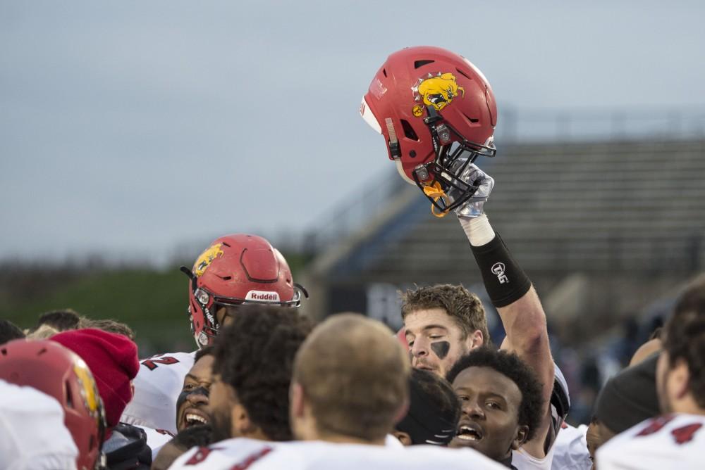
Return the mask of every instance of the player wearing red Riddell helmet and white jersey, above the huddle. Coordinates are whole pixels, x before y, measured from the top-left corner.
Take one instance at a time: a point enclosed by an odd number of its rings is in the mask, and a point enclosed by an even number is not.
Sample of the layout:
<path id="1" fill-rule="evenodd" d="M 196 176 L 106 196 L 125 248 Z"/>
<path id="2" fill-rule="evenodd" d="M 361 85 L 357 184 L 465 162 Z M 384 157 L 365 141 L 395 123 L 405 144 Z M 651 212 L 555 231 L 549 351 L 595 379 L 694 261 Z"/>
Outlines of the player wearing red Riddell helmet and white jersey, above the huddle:
<path id="1" fill-rule="evenodd" d="M 296 308 L 305 290 L 293 282 L 284 257 L 260 236 L 216 239 L 197 258 L 189 277 L 188 314 L 198 348 L 212 344 L 221 326 L 245 304 Z M 176 433 L 176 405 L 196 352 L 171 352 L 140 361 L 135 395 L 121 421 Z"/>

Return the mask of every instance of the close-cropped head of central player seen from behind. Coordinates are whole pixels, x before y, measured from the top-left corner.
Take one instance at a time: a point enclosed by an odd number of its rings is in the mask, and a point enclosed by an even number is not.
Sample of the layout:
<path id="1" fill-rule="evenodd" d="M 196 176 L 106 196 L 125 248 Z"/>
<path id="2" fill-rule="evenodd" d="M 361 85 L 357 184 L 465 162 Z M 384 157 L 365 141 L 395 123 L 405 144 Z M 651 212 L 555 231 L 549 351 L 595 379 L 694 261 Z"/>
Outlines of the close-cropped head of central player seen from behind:
<path id="1" fill-rule="evenodd" d="M 339 314 L 314 329 L 294 362 L 321 435 L 379 440 L 409 396 L 407 354 L 386 326 Z"/>

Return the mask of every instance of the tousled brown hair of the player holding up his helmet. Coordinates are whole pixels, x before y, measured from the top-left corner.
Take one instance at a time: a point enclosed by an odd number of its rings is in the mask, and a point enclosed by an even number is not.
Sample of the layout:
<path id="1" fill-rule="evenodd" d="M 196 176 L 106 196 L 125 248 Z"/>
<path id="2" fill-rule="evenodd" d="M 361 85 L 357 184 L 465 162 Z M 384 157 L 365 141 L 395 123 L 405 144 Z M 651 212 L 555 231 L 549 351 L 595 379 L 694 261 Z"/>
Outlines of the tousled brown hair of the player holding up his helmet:
<path id="1" fill-rule="evenodd" d="M 487 317 L 480 299 L 463 286 L 451 284 L 436 284 L 435 286 L 417 287 L 414 290 L 401 293 L 401 317 L 417 310 L 441 308 L 452 317 L 455 324 L 462 330 L 462 339 L 473 331 L 482 333 L 483 343 L 491 344 L 487 329 Z"/>

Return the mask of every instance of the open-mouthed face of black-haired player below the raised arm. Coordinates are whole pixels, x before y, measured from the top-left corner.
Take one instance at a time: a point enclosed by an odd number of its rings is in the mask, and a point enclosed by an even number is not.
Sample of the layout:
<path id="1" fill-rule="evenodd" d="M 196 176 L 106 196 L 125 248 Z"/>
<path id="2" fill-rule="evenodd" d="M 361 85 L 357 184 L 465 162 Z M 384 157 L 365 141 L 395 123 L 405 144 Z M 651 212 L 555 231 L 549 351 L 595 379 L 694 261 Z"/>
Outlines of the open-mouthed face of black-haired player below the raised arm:
<path id="1" fill-rule="evenodd" d="M 522 393 L 507 376 L 490 367 L 468 367 L 455 377 L 453 390 L 462 414 L 450 447 L 472 447 L 502 461 L 524 442 L 528 429 L 518 424 Z"/>

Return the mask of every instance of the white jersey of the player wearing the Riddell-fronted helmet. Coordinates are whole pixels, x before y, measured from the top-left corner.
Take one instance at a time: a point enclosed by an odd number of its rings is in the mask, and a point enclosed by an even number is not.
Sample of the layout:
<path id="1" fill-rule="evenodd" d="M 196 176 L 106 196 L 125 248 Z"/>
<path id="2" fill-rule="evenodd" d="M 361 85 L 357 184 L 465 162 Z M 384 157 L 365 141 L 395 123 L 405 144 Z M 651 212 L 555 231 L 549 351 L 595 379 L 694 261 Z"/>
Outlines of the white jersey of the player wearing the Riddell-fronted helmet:
<path id="1" fill-rule="evenodd" d="M 140 360 L 135 395 L 120 421 L 176 433 L 176 400 L 196 352 L 172 352 Z"/>

